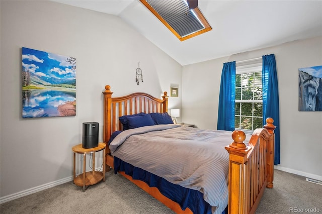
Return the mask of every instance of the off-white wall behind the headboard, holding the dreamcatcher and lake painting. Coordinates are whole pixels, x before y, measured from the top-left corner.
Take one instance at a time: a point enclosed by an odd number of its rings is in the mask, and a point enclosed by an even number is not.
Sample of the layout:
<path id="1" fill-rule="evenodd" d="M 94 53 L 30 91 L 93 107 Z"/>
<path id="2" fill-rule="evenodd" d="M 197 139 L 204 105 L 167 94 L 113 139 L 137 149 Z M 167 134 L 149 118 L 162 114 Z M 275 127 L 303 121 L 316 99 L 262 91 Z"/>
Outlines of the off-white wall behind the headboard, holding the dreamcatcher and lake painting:
<path id="1" fill-rule="evenodd" d="M 160 97 L 181 88 L 182 66 L 120 18 L 49 1 L 1 1 L 1 197 L 72 176 L 82 123 L 100 124 L 106 84 L 114 96 Z M 76 116 L 22 118 L 21 48 L 76 58 Z M 140 62 L 144 82 L 136 85 Z M 169 97 L 169 109 L 181 107 Z M 99 163 L 97 163 L 99 165 Z"/>

